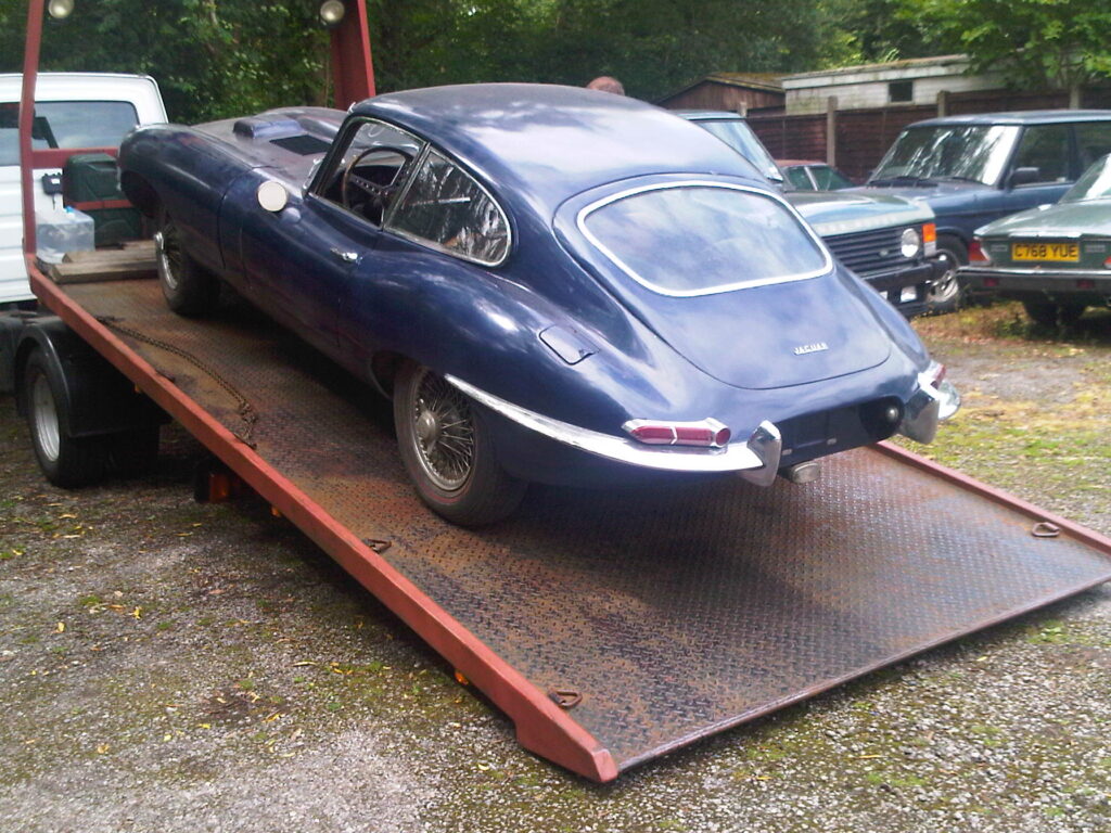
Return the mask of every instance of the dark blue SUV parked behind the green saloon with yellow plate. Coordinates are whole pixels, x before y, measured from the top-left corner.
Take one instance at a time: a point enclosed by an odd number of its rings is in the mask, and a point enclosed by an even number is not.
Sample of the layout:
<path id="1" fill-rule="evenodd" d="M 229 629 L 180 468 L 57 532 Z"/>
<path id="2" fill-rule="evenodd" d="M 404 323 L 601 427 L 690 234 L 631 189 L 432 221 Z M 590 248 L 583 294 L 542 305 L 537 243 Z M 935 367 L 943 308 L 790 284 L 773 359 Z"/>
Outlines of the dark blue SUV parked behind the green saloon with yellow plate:
<path id="1" fill-rule="evenodd" d="M 960 300 L 957 267 L 972 233 L 1005 214 L 1057 202 L 1111 151 L 1111 110 L 1031 110 L 928 119 L 907 127 L 865 185 L 854 191 L 921 200 L 938 223 L 938 257 L 950 267 L 931 305 Z"/>

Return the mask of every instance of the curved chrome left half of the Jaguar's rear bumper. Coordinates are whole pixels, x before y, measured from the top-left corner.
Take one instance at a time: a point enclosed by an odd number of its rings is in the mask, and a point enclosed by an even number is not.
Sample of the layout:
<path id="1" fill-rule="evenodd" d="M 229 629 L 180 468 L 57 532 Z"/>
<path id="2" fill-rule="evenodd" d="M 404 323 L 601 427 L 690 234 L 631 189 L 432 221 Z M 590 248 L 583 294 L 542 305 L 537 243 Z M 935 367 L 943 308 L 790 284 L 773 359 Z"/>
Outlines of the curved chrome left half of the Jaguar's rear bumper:
<path id="1" fill-rule="evenodd" d="M 620 463 L 674 472 L 763 471 L 773 466 L 768 475 L 769 483 L 774 480 L 779 470 L 779 455 L 771 453 L 773 449 L 769 448 L 764 440 L 765 436 L 773 436 L 778 441 L 779 431 L 767 421 L 753 432 L 753 439 L 758 440 L 755 444 L 750 440 L 749 443 L 733 442 L 723 449 L 697 445 L 644 445 L 635 440 L 603 434 L 600 431 L 591 431 L 529 411 L 487 393 L 458 377 L 444 375 L 444 379 L 474 401 L 527 429 L 565 445 Z"/>

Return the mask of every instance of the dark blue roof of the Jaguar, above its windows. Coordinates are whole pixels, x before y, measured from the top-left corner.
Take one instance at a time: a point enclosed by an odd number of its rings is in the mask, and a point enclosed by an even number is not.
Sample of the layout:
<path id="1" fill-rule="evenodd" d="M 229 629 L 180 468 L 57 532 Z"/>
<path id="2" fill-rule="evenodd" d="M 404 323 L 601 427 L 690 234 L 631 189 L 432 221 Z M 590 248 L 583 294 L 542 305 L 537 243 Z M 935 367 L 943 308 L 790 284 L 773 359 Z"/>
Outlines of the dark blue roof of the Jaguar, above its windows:
<path id="1" fill-rule="evenodd" d="M 503 198 L 550 211 L 598 185 L 658 173 L 727 174 L 765 189 L 701 128 L 633 98 L 556 84 L 460 84 L 378 96 L 352 112 L 423 136 Z"/>

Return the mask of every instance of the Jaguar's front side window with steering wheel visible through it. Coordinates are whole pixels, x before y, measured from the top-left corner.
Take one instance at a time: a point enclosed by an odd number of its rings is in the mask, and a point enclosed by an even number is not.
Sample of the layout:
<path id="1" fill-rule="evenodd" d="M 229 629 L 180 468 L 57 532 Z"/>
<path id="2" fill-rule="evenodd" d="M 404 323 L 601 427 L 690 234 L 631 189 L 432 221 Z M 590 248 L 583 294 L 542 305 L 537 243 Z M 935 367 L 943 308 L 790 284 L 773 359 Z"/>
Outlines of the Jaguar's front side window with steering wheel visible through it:
<path id="1" fill-rule="evenodd" d="M 374 225 L 381 225 L 424 143 L 417 137 L 373 119 L 360 119 L 338 140 L 343 152 L 333 157 L 317 180 L 317 193 Z"/>

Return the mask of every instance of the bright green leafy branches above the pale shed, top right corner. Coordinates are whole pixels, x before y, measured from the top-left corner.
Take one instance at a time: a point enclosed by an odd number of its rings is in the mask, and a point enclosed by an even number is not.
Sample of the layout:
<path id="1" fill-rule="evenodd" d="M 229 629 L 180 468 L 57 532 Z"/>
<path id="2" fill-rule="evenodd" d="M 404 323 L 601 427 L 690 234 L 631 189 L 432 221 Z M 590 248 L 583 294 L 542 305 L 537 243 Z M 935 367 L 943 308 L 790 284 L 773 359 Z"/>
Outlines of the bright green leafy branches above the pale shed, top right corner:
<path id="1" fill-rule="evenodd" d="M 1111 77 L 1111 6 L 1091 0 L 904 0 L 903 19 L 935 27 L 971 59 L 1015 86 L 1069 91 Z"/>

